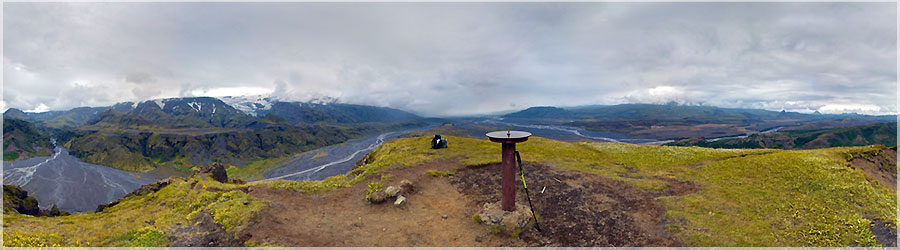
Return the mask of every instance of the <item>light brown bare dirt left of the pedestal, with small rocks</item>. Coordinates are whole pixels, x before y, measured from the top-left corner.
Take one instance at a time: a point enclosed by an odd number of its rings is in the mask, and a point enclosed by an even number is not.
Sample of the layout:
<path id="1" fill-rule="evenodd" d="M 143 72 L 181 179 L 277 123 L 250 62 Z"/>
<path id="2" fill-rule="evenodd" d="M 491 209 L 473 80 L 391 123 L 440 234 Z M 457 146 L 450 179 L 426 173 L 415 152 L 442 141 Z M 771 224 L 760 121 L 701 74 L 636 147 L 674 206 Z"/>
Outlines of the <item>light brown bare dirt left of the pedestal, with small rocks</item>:
<path id="1" fill-rule="evenodd" d="M 390 200 L 369 204 L 367 183 L 324 194 L 254 187 L 250 194 L 270 201 L 259 221 L 241 238 L 280 246 L 524 246 L 518 238 L 491 235 L 472 221 L 467 199 L 446 177 L 432 177 L 427 170 L 453 171 L 457 162 L 439 162 L 390 171 L 388 185 L 412 181 L 415 191 L 407 204 L 395 207 Z M 446 219 L 442 216 L 447 215 Z"/>

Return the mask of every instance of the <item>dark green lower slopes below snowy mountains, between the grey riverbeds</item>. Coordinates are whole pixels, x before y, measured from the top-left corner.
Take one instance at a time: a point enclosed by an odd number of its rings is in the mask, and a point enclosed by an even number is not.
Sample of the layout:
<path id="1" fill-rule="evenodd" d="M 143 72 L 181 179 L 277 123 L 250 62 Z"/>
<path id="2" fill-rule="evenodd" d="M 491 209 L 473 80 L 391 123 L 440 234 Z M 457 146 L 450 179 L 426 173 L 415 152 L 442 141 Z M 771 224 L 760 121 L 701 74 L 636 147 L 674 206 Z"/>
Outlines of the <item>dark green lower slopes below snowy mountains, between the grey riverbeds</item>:
<path id="1" fill-rule="evenodd" d="M 168 167 L 189 173 L 213 162 L 229 165 L 239 178 L 261 176 L 280 159 L 384 131 L 424 126 L 422 122 L 356 125 L 269 126 L 256 129 L 79 131 L 65 146 L 82 161 L 126 171 Z"/>

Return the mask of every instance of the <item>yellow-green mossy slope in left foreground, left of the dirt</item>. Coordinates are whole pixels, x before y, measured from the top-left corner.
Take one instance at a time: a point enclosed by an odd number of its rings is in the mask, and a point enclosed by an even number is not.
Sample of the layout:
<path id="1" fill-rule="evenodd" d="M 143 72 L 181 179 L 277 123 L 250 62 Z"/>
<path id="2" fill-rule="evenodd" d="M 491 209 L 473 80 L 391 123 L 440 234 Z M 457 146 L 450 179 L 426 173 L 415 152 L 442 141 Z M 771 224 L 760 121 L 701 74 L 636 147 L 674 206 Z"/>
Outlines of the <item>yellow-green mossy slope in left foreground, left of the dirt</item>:
<path id="1" fill-rule="evenodd" d="M 207 179 L 175 179 L 156 193 L 131 196 L 101 213 L 61 217 L 4 214 L 3 244 L 24 246 L 169 246 L 175 229 L 209 213 L 227 232 L 237 232 L 265 201 Z"/>

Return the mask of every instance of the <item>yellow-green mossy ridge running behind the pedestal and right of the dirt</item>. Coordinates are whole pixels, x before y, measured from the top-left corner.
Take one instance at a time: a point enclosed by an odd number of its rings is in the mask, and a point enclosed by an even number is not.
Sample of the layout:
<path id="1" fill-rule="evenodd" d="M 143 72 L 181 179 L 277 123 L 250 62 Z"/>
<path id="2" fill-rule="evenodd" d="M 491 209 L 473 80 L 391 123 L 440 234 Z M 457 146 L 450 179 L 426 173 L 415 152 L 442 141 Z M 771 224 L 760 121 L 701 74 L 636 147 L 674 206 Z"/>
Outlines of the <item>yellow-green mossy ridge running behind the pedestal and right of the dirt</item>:
<path id="1" fill-rule="evenodd" d="M 453 146 L 428 148 L 429 136 L 397 139 L 378 148 L 370 164 L 323 181 L 274 181 L 305 192 L 347 187 L 388 169 L 433 160 L 468 165 L 499 162 L 500 147 L 450 136 Z M 625 181 L 645 190 L 690 181 L 700 191 L 660 197 L 667 229 L 689 246 L 874 246 L 871 219 L 894 221 L 896 196 L 847 163 L 851 152 L 879 146 L 819 150 L 709 149 L 620 143 L 567 143 L 533 137 L 518 145 L 526 161 Z"/>

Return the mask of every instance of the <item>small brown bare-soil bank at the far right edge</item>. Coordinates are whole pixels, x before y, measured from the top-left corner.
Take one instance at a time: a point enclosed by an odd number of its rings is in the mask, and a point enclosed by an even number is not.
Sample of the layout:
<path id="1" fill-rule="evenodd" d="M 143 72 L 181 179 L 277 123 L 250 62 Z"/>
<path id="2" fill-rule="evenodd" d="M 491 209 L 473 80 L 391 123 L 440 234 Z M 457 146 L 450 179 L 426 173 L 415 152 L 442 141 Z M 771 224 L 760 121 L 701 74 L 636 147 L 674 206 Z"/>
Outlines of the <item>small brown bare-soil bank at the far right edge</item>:
<path id="1" fill-rule="evenodd" d="M 878 155 L 854 154 L 850 163 L 884 187 L 897 191 L 896 147 L 884 148 Z"/>

